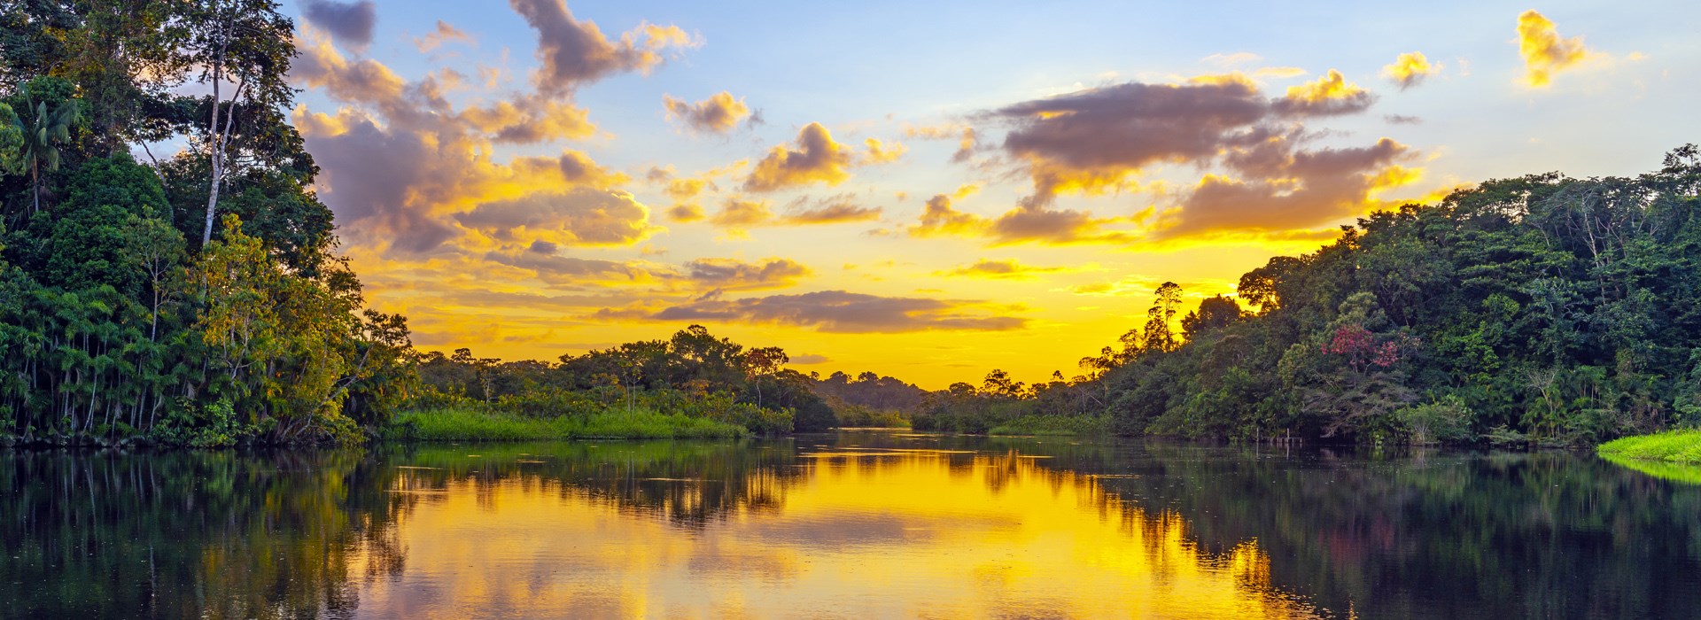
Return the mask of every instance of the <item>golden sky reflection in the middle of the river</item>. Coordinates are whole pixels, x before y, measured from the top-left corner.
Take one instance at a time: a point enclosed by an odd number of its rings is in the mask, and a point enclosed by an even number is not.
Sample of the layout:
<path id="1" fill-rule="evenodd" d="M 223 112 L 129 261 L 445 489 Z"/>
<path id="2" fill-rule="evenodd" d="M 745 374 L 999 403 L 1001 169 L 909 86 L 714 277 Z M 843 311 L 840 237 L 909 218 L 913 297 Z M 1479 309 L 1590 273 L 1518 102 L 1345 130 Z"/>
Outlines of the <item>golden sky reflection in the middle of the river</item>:
<path id="1" fill-rule="evenodd" d="M 716 518 L 682 525 L 546 476 L 422 481 L 395 520 L 400 571 L 357 550 L 371 617 L 1152 617 L 1288 618 L 1255 542 L 1201 552 L 1175 513 L 1015 452 L 799 452 L 742 476 Z M 485 457 L 495 460 L 497 457 Z M 548 455 L 521 459 L 548 460 Z M 512 460 L 512 459 L 510 459 Z M 483 462 L 481 462 L 483 465 Z M 539 467 L 539 465 L 524 465 Z M 611 472 L 617 469 L 609 469 Z M 524 471 L 522 471 L 524 472 Z M 801 474 L 801 476 L 799 476 Z M 668 511 L 728 481 L 677 486 Z"/>

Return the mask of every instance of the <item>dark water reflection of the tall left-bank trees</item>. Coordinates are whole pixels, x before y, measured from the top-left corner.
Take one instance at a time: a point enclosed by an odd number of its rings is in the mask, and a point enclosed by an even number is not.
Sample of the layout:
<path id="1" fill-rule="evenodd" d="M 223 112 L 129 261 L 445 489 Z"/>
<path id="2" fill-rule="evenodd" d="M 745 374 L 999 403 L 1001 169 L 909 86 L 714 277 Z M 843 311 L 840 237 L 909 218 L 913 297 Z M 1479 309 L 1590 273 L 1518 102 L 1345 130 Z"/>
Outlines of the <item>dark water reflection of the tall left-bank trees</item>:
<path id="1" fill-rule="evenodd" d="M 350 549 L 403 567 L 383 488 L 349 452 L 0 454 L 0 615 L 352 610 Z"/>

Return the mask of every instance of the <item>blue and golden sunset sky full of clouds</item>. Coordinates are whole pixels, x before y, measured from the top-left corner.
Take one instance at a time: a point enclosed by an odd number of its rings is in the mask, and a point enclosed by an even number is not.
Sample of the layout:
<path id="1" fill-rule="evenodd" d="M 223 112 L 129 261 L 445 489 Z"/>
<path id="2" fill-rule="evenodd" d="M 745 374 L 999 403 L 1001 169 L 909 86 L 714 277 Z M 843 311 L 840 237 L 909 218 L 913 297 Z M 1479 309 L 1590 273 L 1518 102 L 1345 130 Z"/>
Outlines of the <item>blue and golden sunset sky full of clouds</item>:
<path id="1" fill-rule="evenodd" d="M 1686 2 L 282 10 L 367 304 L 507 360 L 704 324 L 822 375 L 1070 377 L 1162 282 L 1701 139 Z"/>

